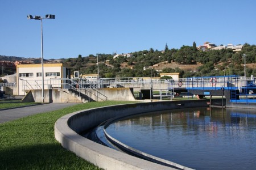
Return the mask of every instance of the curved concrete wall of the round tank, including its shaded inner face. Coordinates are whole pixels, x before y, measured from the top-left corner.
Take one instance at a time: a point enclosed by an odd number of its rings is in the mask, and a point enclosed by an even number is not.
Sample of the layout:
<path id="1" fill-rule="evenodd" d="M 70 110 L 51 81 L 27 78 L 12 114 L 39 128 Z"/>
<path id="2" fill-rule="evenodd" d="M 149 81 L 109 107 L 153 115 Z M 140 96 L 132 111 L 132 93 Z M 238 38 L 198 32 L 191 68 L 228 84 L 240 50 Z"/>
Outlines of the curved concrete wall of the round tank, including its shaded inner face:
<path id="1" fill-rule="evenodd" d="M 102 146 L 79 135 L 101 122 L 113 117 L 125 117 L 132 114 L 154 112 L 167 109 L 204 107 L 208 100 L 161 101 L 153 103 L 135 103 L 114 105 L 95 109 L 86 109 L 67 114 L 55 123 L 55 138 L 61 145 L 77 156 L 104 169 L 174 169 L 148 162 L 112 148 Z"/>

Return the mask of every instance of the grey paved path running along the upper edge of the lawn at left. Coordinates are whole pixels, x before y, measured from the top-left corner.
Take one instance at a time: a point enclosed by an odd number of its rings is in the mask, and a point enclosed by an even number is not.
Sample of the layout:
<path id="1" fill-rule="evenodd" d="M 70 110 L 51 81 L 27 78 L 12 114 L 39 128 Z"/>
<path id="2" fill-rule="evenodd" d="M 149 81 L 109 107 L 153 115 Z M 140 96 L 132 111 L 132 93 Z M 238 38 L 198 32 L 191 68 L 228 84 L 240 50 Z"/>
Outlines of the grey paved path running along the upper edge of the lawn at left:
<path id="1" fill-rule="evenodd" d="M 51 112 L 51 111 L 55 111 L 55 110 L 69 107 L 76 104 L 79 104 L 79 103 L 49 103 L 49 104 L 28 106 L 23 108 L 7 109 L 4 111 L 0 111 L 0 124 L 7 121 L 13 121 L 18 118 L 30 116 L 32 114 Z"/>

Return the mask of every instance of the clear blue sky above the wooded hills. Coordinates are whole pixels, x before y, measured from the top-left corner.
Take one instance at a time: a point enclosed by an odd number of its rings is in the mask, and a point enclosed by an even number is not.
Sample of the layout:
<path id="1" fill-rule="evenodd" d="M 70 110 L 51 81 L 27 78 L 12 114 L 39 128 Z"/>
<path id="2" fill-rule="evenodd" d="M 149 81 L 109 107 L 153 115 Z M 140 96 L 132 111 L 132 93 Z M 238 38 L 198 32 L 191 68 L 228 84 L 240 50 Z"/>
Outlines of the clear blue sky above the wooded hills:
<path id="1" fill-rule="evenodd" d="M 193 41 L 256 44 L 254 0 L 0 0 L 0 55 L 44 58 L 179 49 Z"/>

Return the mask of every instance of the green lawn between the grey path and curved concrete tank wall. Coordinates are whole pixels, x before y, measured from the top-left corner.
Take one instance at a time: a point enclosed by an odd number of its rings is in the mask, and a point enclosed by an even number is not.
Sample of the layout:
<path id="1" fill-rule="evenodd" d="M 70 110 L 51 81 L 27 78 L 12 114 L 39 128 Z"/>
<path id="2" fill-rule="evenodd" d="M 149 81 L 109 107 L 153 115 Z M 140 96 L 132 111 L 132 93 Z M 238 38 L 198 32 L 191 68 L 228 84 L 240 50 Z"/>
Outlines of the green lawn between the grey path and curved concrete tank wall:
<path id="1" fill-rule="evenodd" d="M 61 147 L 54 124 L 65 114 L 129 101 L 78 104 L 0 124 L 0 169 L 100 169 Z"/>

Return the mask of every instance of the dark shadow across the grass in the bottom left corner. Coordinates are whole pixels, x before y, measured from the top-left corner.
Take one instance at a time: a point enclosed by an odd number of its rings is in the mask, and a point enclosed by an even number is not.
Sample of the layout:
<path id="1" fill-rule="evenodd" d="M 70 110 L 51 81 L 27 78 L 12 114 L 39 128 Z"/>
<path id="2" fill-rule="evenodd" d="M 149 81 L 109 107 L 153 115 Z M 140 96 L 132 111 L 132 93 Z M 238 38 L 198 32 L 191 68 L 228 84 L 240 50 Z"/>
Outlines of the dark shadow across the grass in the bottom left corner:
<path id="1" fill-rule="evenodd" d="M 99 169 L 59 143 L 0 150 L 0 169 Z"/>

